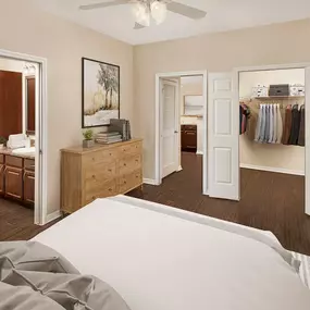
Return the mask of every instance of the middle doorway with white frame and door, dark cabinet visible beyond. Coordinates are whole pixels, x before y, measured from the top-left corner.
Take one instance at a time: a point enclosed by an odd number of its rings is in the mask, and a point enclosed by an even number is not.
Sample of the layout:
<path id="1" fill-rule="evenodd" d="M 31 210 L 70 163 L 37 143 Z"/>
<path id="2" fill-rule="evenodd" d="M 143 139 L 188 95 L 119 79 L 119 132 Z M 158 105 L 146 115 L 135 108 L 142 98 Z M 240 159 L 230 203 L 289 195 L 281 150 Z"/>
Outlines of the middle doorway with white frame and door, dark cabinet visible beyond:
<path id="1" fill-rule="evenodd" d="M 184 92 L 184 85 L 200 82 L 198 94 Z M 190 82 L 191 80 L 191 82 Z M 182 171 L 182 149 L 199 151 L 202 162 L 202 194 L 207 194 L 207 72 L 157 74 L 156 77 L 156 184 L 174 172 Z M 198 100 L 197 100 L 198 99 Z M 203 104 L 204 103 L 204 104 Z M 197 110 L 198 109 L 198 110 Z M 186 113 L 189 113 L 186 115 Z M 199 115 L 198 115 L 199 114 Z M 198 125 L 191 124 L 193 120 Z M 186 126 L 190 126 L 186 128 Z M 199 141 L 198 141 L 199 134 Z M 186 146 L 182 146 L 185 142 Z M 199 150 L 198 150 L 199 147 Z M 188 163 L 188 158 L 186 158 Z"/>

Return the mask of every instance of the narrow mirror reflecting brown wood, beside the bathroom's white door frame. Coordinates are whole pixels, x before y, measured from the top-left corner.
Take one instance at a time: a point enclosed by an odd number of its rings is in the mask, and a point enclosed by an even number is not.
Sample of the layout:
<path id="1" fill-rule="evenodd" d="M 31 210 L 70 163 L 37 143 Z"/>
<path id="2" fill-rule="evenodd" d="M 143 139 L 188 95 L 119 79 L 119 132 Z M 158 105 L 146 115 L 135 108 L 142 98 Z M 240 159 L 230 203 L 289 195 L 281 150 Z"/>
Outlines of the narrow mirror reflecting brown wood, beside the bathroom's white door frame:
<path id="1" fill-rule="evenodd" d="M 36 77 L 26 77 L 26 134 L 35 135 L 36 133 Z"/>

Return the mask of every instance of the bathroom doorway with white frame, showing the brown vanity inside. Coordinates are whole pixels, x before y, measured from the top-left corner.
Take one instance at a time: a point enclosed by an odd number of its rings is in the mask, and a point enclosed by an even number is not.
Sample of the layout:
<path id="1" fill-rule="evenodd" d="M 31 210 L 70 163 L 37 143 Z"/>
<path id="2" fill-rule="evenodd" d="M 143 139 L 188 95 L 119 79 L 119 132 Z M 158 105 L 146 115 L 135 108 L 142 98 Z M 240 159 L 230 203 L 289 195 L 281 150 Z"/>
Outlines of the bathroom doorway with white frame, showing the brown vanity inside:
<path id="1" fill-rule="evenodd" d="M 8 131 L 1 134 L 5 144 L 1 151 L 1 199 L 33 208 L 32 223 L 44 225 L 47 222 L 47 61 L 0 50 L 0 62 L 2 91 L 9 94 L 11 77 L 18 89 L 14 98 L 18 117 L 14 113 L 8 115 L 15 126 L 7 126 Z"/>

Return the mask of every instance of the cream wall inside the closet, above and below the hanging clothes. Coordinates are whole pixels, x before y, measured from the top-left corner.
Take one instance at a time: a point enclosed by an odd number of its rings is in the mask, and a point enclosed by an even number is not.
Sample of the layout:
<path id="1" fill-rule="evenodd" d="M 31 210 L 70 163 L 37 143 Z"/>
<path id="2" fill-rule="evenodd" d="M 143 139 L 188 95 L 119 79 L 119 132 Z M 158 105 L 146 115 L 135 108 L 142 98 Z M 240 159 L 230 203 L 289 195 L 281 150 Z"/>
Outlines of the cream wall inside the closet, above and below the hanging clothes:
<path id="1" fill-rule="evenodd" d="M 239 75 L 239 96 L 250 98 L 252 88 L 257 85 L 272 84 L 301 84 L 305 85 L 305 69 L 241 72 Z M 249 103 L 251 113 L 258 116 L 259 103 Z M 305 99 L 281 100 L 286 107 L 289 103 L 305 103 Z M 255 117 L 257 119 L 257 117 Z M 285 170 L 295 173 L 305 173 L 305 148 L 299 146 L 264 145 L 250 140 L 247 135 L 240 136 L 240 165 Z"/>

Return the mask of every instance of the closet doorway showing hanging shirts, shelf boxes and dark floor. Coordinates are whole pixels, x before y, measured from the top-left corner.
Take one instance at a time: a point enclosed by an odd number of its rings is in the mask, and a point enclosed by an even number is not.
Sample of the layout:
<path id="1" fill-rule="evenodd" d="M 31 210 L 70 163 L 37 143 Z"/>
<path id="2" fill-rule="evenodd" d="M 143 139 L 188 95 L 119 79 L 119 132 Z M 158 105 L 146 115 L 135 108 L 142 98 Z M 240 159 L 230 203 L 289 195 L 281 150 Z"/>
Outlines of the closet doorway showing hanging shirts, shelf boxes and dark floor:
<path id="1" fill-rule="evenodd" d="M 259 201 L 266 213 L 278 208 L 280 216 L 294 209 L 310 214 L 308 72 L 307 65 L 237 71 L 240 200 Z"/>

